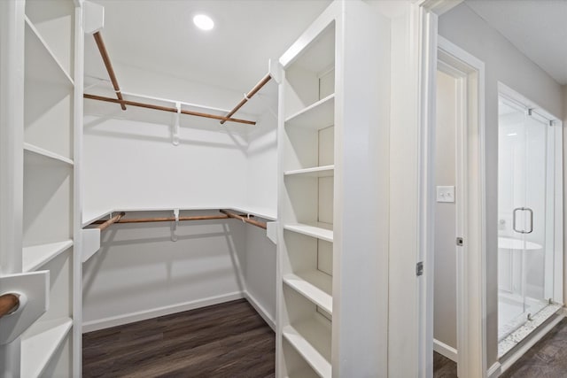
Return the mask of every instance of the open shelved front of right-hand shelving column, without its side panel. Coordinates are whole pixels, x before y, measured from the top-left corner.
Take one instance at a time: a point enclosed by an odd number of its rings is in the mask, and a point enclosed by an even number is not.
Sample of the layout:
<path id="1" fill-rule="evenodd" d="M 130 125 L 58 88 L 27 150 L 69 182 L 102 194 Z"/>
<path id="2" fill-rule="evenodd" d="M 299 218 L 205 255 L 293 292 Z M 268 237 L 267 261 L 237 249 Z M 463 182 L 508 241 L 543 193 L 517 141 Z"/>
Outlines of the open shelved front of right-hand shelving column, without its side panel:
<path id="1" fill-rule="evenodd" d="M 336 33 L 324 26 L 280 89 L 279 376 L 332 371 Z"/>

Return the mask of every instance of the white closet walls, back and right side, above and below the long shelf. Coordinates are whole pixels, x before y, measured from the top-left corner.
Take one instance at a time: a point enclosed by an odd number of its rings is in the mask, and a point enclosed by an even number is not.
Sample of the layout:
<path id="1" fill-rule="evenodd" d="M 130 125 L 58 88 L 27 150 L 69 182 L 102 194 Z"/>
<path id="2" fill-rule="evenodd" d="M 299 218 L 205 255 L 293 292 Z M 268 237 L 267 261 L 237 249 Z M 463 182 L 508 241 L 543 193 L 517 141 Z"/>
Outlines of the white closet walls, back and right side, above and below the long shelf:
<path id="1" fill-rule="evenodd" d="M 220 108 L 242 96 L 117 66 L 124 91 Z M 85 100 L 85 212 L 253 207 L 276 214 L 273 104 L 273 91 L 262 90 L 250 107 L 260 115 L 237 113 L 258 120 L 257 126 L 182 115 L 175 146 L 175 114 L 132 106 L 122 112 L 118 104 Z M 84 264 L 85 330 L 242 296 L 256 302 L 268 322 L 275 320 L 276 246 L 265 230 L 208 220 L 181 222 L 177 234 L 172 242 L 168 222 L 113 225 L 103 233 L 101 250 Z"/>

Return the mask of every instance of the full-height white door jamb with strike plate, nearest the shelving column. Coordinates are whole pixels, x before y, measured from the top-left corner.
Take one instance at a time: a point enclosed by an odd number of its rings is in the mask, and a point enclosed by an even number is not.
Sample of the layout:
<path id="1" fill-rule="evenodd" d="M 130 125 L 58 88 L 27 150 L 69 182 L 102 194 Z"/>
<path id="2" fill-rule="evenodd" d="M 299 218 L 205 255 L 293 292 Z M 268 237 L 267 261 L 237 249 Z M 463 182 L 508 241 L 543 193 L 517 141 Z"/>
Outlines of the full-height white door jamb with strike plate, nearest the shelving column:
<path id="1" fill-rule="evenodd" d="M 432 7 L 443 1 L 425 2 L 412 14 L 416 41 L 417 74 L 417 261 L 426 266 L 418 281 L 418 376 L 433 376 L 433 292 L 434 292 L 434 150 L 437 75 L 438 17 Z M 429 6 L 428 6 L 429 5 Z M 414 36 L 412 36 L 414 37 Z"/>

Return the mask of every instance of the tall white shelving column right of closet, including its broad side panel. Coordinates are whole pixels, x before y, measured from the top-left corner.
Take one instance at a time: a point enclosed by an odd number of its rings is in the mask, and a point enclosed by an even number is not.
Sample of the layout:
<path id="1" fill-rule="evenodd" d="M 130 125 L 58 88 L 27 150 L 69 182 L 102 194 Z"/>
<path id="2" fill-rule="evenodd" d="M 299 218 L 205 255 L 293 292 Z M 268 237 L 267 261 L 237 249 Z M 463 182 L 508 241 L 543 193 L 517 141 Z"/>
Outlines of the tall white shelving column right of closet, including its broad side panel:
<path id="1" fill-rule="evenodd" d="M 389 32 L 338 0 L 280 58 L 277 377 L 387 374 Z"/>

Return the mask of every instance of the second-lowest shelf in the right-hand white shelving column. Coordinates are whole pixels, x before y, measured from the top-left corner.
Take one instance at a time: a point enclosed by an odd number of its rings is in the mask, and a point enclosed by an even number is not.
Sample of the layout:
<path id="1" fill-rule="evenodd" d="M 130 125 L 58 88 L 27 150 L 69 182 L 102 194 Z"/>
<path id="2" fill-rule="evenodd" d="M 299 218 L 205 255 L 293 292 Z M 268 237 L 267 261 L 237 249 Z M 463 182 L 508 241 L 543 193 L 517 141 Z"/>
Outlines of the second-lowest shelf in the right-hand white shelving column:
<path id="1" fill-rule="evenodd" d="M 298 274 L 284 274 L 283 282 L 315 305 L 332 314 L 332 277 L 318 270 Z"/>

